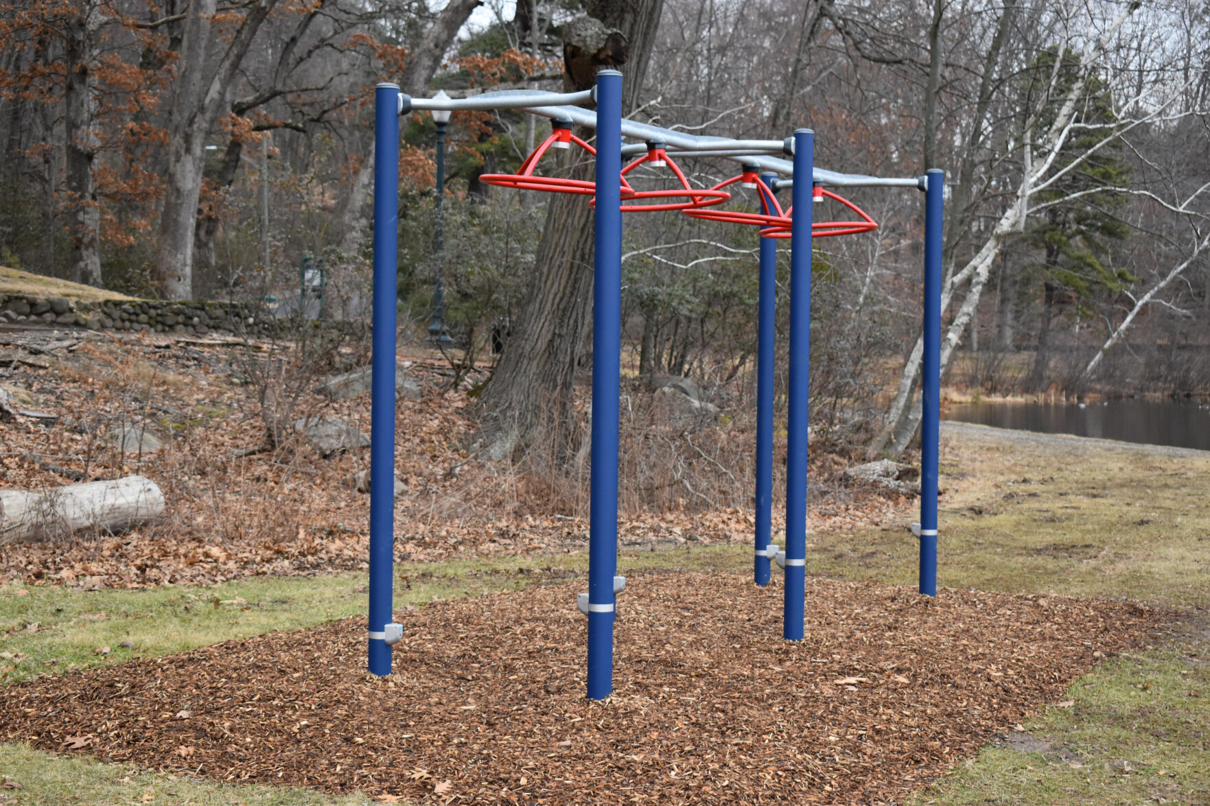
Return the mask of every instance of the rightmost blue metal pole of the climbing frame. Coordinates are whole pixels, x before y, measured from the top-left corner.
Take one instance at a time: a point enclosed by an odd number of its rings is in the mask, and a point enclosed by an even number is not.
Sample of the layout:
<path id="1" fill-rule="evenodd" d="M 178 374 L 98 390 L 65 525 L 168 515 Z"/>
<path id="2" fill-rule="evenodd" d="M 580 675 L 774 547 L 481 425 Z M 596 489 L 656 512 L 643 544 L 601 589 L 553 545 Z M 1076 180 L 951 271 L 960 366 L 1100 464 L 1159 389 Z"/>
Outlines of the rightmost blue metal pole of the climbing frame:
<path id="1" fill-rule="evenodd" d="M 941 237 L 945 172 L 924 177 L 924 359 L 920 422 L 920 592 L 937 595 L 937 455 L 941 421 Z"/>

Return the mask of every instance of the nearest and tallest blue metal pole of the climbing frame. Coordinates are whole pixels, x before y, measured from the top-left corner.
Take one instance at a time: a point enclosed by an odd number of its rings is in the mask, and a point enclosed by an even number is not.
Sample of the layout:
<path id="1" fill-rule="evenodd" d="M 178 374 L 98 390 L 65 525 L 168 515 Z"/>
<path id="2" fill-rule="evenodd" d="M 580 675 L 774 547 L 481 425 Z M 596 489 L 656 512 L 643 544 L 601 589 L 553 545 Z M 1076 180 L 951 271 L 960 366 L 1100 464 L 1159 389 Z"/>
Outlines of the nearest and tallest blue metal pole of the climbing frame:
<path id="1" fill-rule="evenodd" d="M 622 74 L 597 74 L 593 418 L 588 524 L 588 698 L 613 691 L 617 430 L 622 359 Z"/>

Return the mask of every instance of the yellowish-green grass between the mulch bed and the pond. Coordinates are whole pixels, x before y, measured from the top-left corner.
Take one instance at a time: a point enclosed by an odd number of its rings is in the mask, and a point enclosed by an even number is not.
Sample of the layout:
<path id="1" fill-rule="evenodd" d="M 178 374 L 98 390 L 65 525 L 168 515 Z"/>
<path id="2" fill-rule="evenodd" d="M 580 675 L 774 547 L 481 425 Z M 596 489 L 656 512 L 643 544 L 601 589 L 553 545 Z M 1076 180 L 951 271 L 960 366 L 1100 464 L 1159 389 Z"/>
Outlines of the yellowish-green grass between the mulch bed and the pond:
<path id="1" fill-rule="evenodd" d="M 1210 608 L 1210 455 L 990 433 L 943 459 L 939 585 Z M 808 571 L 915 582 L 906 523 L 808 540 Z"/>

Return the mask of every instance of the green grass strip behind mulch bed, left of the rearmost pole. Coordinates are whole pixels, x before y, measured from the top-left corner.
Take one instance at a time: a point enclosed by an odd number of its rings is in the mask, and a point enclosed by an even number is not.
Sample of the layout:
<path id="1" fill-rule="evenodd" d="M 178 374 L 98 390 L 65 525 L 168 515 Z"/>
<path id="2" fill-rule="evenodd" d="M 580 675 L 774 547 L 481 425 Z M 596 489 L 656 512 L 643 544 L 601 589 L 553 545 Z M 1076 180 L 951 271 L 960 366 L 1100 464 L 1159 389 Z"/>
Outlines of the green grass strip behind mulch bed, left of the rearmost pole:
<path id="1" fill-rule="evenodd" d="M 737 570 L 738 547 L 623 553 L 618 566 Z M 394 603 L 474 595 L 559 581 L 588 569 L 583 553 L 397 565 Z M 0 586 L 0 681 L 155 657 L 275 629 L 311 627 L 365 612 L 364 575 L 253 577 L 213 587 L 75 591 Z M 569 604 L 569 606 L 575 606 Z M 108 647 L 109 652 L 98 650 Z"/>

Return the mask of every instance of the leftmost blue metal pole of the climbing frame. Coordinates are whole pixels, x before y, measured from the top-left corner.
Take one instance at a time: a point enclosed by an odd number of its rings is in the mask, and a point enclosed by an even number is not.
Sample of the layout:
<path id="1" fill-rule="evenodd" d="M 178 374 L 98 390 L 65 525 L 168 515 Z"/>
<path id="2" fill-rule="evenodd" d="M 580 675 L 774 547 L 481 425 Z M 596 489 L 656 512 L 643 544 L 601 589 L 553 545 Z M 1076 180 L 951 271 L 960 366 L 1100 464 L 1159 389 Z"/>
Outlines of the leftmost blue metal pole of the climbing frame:
<path id="1" fill-rule="evenodd" d="M 399 229 L 399 87 L 374 91 L 374 339 L 370 380 L 369 668 L 391 674 L 385 628 L 394 577 L 394 330 Z"/>

